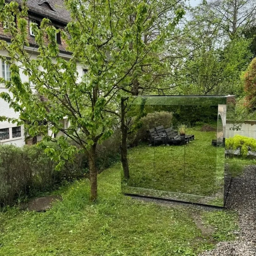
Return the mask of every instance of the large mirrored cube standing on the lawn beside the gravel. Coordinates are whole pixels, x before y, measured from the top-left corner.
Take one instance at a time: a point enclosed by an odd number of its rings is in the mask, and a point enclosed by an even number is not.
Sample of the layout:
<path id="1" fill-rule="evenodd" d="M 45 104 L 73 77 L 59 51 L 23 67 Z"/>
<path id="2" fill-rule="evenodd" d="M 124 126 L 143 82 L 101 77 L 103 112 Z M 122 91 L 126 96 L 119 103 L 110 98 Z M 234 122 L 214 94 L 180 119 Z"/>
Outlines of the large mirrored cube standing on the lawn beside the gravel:
<path id="1" fill-rule="evenodd" d="M 225 205 L 234 96 L 123 97 L 121 109 L 124 194 Z"/>

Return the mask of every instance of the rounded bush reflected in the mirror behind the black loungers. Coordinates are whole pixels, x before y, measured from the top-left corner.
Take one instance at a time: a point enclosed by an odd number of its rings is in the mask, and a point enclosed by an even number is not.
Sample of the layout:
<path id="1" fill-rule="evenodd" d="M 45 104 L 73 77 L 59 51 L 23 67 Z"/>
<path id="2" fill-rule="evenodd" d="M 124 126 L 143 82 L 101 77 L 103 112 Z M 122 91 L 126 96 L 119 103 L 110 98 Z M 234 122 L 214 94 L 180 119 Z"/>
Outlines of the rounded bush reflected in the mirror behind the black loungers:
<path id="1" fill-rule="evenodd" d="M 159 111 L 148 113 L 140 120 L 140 128 L 128 136 L 130 145 L 137 145 L 140 141 L 147 141 L 149 129 L 163 125 L 164 128 L 172 126 L 172 112 Z"/>

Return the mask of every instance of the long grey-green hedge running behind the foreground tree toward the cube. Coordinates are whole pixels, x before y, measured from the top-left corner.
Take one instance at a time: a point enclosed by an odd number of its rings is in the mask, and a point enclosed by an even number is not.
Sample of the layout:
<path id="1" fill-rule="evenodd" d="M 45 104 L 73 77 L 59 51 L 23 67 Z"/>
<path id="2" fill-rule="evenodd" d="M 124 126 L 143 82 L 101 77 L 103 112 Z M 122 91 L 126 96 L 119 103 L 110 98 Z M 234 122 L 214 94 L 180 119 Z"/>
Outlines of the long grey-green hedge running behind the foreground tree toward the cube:
<path id="1" fill-rule="evenodd" d="M 46 144 L 58 147 L 53 142 Z M 116 128 L 114 135 L 97 147 L 99 173 L 120 161 L 119 148 L 120 131 Z M 36 145 L 19 148 L 0 144 L 0 206 L 57 189 L 63 182 L 87 177 L 89 173 L 85 154 L 77 154 L 60 171 L 55 171 L 56 164 Z"/>

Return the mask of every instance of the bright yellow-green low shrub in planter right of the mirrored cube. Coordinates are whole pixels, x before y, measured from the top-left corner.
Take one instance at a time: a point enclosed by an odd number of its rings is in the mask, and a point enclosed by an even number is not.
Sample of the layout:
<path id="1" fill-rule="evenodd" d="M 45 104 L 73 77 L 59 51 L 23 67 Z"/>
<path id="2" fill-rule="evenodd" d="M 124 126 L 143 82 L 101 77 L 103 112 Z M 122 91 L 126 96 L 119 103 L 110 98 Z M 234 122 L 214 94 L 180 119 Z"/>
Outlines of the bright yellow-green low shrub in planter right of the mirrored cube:
<path id="1" fill-rule="evenodd" d="M 241 155 L 246 157 L 248 150 L 256 150 L 256 139 L 236 134 L 233 138 L 226 139 L 225 147 L 233 150 L 241 148 Z"/>

